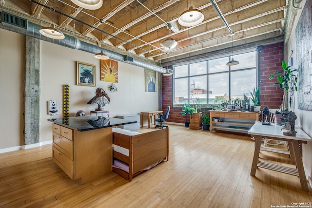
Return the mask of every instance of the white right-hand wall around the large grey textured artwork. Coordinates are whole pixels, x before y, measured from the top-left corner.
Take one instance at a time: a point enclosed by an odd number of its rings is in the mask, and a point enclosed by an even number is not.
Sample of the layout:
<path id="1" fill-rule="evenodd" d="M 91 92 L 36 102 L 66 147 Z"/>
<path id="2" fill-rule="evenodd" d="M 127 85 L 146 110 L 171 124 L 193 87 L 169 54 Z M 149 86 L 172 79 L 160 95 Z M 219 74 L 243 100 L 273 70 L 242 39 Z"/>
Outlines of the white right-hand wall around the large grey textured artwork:
<path id="1" fill-rule="evenodd" d="M 306 0 L 303 0 L 302 4 L 301 4 L 302 8 L 304 7 L 305 3 L 306 3 Z M 294 27 L 292 29 L 292 35 L 291 35 L 289 41 L 286 43 L 287 48 L 285 48 L 285 50 L 287 50 L 287 53 L 285 53 L 285 54 L 288 54 L 287 55 L 288 58 L 290 57 L 290 55 L 293 52 L 293 54 L 292 54 L 293 67 L 292 68 L 294 68 L 294 69 L 297 68 L 295 30 L 296 30 L 296 25 L 298 23 L 300 15 L 301 15 L 301 11 L 302 11 L 301 9 L 298 10 L 298 15 L 294 19 L 295 23 L 294 23 Z M 307 60 L 307 61 L 312 61 L 312 60 Z M 298 73 L 300 73 L 300 72 L 298 72 Z M 312 137 L 312 111 L 298 110 L 297 92 L 295 92 L 294 97 L 295 97 L 294 112 L 297 115 L 296 125 L 298 125 L 300 128 L 302 128 L 302 130 L 304 132 L 306 132 L 310 137 Z M 302 156 L 303 156 L 302 160 L 303 160 L 303 164 L 304 164 L 304 167 L 306 170 L 306 174 L 308 175 L 307 179 L 309 180 L 309 183 L 312 184 L 312 179 L 311 179 L 311 174 L 312 174 L 312 142 L 308 142 L 307 144 L 303 145 L 303 155 Z"/>

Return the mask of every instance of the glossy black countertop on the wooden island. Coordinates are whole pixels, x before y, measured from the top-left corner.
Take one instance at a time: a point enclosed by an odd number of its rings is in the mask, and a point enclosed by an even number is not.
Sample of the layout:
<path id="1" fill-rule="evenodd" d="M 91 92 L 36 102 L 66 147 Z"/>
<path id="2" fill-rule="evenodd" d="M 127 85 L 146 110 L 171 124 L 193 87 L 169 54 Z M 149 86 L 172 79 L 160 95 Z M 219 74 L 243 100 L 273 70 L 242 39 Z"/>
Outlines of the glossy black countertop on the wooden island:
<path id="1" fill-rule="evenodd" d="M 59 124 L 61 126 L 65 126 L 70 129 L 78 130 L 79 132 L 137 123 L 137 121 L 130 121 L 121 118 L 101 117 L 97 115 L 67 118 L 49 118 L 48 121 Z"/>

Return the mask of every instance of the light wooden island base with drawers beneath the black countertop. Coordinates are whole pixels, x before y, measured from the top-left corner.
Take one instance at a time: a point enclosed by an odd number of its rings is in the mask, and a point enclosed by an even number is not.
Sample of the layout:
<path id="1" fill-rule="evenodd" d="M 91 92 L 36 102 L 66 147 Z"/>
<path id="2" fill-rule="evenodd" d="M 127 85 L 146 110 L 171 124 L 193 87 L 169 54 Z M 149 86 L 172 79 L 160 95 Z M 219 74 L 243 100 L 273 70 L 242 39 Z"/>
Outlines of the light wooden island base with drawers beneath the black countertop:
<path id="1" fill-rule="evenodd" d="M 112 128 L 79 132 L 53 123 L 53 161 L 83 184 L 112 171 Z"/>

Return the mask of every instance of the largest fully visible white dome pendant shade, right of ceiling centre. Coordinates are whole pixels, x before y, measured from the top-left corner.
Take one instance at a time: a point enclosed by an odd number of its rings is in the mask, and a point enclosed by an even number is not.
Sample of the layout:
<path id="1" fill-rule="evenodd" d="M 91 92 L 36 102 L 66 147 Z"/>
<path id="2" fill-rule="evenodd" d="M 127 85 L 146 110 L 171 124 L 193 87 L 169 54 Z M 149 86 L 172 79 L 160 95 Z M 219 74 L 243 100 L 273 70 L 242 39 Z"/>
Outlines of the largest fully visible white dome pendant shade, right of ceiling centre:
<path id="1" fill-rule="evenodd" d="M 178 22 L 180 25 L 184 27 L 192 27 L 204 20 L 203 13 L 198 9 L 193 9 L 193 6 L 190 6 L 190 8 L 186 11 L 184 11 L 179 19 Z"/>

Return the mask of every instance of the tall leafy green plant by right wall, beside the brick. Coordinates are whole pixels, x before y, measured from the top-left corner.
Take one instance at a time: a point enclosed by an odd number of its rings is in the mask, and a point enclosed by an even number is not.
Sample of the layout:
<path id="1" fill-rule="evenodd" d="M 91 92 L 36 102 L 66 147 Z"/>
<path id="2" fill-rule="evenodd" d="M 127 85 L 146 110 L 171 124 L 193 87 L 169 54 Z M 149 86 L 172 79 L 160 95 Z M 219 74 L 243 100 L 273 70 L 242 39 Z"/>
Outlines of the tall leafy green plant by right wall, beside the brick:
<path id="1" fill-rule="evenodd" d="M 288 105 L 286 105 L 286 101 L 288 99 L 288 90 L 291 90 L 291 96 L 293 95 L 293 91 L 297 91 L 297 76 L 293 74 L 297 72 L 297 69 L 291 69 L 290 66 L 287 66 L 285 61 L 282 61 L 283 72 L 275 71 L 274 74 L 269 78 L 270 80 L 273 77 L 277 76 L 277 81 L 274 85 L 278 85 L 280 89 L 284 92 L 283 94 L 283 102 L 282 102 L 282 110 L 288 109 Z"/>

